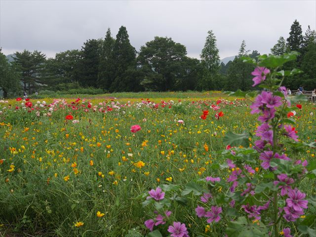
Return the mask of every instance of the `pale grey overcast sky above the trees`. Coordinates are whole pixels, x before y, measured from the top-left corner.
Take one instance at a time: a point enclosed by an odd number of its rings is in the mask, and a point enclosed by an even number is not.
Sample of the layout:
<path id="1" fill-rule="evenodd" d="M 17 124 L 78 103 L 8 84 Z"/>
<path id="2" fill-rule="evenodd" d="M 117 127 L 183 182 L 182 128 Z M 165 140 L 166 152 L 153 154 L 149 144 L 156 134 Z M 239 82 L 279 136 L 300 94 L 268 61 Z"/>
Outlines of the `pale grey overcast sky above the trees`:
<path id="1" fill-rule="evenodd" d="M 315 29 L 316 0 L 0 0 L 0 47 L 4 54 L 28 49 L 54 57 L 104 38 L 108 27 L 115 37 L 123 25 L 136 50 L 167 36 L 196 58 L 213 30 L 224 58 L 236 55 L 242 40 L 249 50 L 269 53 L 280 36 L 288 37 L 295 19 L 303 34 L 308 25 Z"/>

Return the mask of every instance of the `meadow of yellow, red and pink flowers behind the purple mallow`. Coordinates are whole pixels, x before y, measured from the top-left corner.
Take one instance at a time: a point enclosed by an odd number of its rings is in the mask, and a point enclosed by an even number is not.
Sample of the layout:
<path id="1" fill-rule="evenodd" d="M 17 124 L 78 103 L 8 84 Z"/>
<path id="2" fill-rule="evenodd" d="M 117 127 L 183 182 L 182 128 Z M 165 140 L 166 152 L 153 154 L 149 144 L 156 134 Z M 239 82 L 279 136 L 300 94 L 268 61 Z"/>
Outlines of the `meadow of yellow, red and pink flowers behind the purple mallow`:
<path id="1" fill-rule="evenodd" d="M 144 193 L 228 177 L 234 168 L 219 165 L 223 138 L 228 131 L 255 133 L 252 101 L 219 92 L 158 95 L 0 101 L 0 235 L 142 237 L 149 232 Z M 316 141 L 316 105 L 293 106 L 288 117 L 296 119 L 299 141 Z M 287 149 L 290 155 L 295 147 Z M 291 158 L 315 160 L 315 153 L 306 148 Z M 253 169 L 254 176 L 266 173 L 259 159 Z M 315 195 L 313 180 L 299 188 Z M 220 230 L 198 218 L 194 196 L 182 204 L 172 204 L 172 218 L 186 223 L 191 237 L 217 236 Z"/>

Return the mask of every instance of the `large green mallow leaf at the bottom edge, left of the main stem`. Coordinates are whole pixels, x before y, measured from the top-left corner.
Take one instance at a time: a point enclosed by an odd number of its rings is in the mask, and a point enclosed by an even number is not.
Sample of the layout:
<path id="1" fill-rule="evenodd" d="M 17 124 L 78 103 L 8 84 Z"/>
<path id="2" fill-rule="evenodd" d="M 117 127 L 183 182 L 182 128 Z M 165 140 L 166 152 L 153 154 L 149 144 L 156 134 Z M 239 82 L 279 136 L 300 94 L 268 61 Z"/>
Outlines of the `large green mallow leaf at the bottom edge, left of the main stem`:
<path id="1" fill-rule="evenodd" d="M 266 226 L 262 222 L 259 224 L 248 223 L 244 216 L 238 217 L 237 221 L 229 222 L 226 234 L 229 237 L 268 237 Z"/>

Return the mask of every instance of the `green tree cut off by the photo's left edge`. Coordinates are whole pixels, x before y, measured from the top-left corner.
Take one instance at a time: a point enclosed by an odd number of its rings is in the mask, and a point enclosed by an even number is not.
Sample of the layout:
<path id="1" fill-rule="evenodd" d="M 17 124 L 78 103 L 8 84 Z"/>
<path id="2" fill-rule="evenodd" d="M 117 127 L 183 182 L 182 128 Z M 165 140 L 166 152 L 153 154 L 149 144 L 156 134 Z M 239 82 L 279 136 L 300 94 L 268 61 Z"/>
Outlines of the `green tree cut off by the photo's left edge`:
<path id="1" fill-rule="evenodd" d="M 9 93 L 18 93 L 21 91 L 19 83 L 19 74 L 14 65 L 10 64 L 0 48 L 0 89 L 3 91 L 3 97 L 8 97 Z"/>

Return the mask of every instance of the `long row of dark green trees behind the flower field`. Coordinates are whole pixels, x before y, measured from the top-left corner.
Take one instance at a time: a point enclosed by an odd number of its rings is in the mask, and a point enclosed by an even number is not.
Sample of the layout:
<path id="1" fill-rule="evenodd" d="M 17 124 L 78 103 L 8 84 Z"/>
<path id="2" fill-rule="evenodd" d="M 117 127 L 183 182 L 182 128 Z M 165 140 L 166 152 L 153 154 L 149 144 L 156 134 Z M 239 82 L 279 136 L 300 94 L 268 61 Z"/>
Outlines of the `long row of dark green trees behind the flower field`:
<path id="1" fill-rule="evenodd" d="M 284 69 L 296 67 L 304 71 L 285 81 L 296 89 L 316 87 L 316 32 L 310 26 L 302 35 L 297 20 L 291 25 L 288 38 L 280 37 L 271 54 L 298 51 L 295 62 Z M 99 88 L 101 91 L 185 91 L 185 90 L 250 90 L 253 66 L 243 63 L 242 56 L 256 57 L 257 50 L 246 50 L 243 40 L 238 55 L 227 64 L 220 64 L 216 37 L 207 33 L 200 60 L 187 56 L 186 47 L 167 37 L 155 37 L 137 52 L 130 44 L 127 30 L 119 28 L 116 39 L 108 29 L 104 39 L 87 40 L 81 50 L 56 53 L 46 58 L 39 52 L 16 52 L 13 61 L 0 51 L 0 89 L 3 96 L 29 94 L 43 89 L 53 91 L 71 88 Z M 100 90 L 99 90 L 100 91 Z"/>

